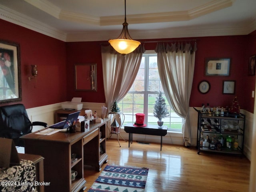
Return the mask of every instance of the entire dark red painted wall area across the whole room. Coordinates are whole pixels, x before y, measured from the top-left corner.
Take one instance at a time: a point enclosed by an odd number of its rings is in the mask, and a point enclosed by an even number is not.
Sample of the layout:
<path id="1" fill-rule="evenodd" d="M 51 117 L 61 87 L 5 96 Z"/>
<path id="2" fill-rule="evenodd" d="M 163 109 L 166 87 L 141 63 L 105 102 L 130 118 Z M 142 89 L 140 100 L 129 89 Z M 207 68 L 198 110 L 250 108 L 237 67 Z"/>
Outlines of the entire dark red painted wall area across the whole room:
<path id="1" fill-rule="evenodd" d="M 43 106 L 73 97 L 83 102 L 105 102 L 101 44 L 106 42 L 62 42 L 43 34 L 0 20 L 0 39 L 20 43 L 22 102 L 26 108 Z M 179 38 L 179 40 L 193 38 Z M 242 109 L 253 112 L 255 76 L 248 76 L 249 56 L 256 54 L 256 32 L 246 36 L 200 37 L 197 39 L 196 61 L 190 106 L 230 106 L 234 96 Z M 161 39 L 162 40 L 162 39 Z M 168 39 L 175 40 L 175 39 Z M 142 40 L 147 41 L 147 40 Z M 148 40 L 154 41 L 154 40 Z M 156 43 L 145 43 L 146 50 L 154 50 Z M 231 58 L 230 76 L 204 76 L 205 58 Z M 75 91 L 74 64 L 97 64 L 97 92 Z M 38 65 L 37 80 L 28 81 L 30 65 Z M 198 83 L 208 80 L 207 94 L 198 92 Z M 222 94 L 223 80 L 236 80 L 236 94 Z"/>

